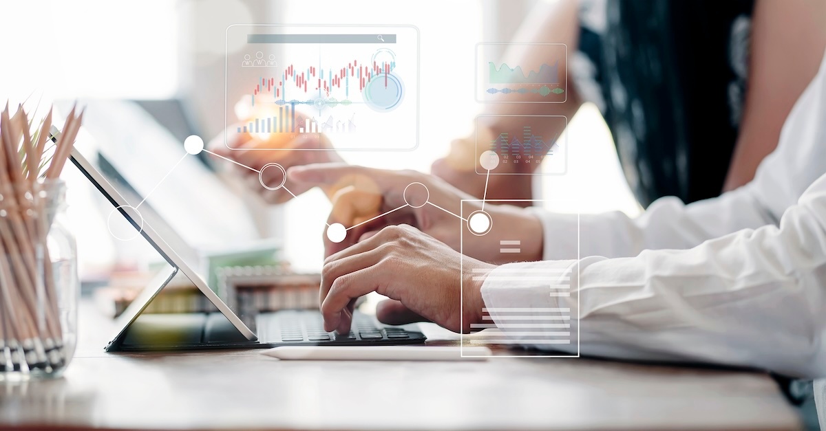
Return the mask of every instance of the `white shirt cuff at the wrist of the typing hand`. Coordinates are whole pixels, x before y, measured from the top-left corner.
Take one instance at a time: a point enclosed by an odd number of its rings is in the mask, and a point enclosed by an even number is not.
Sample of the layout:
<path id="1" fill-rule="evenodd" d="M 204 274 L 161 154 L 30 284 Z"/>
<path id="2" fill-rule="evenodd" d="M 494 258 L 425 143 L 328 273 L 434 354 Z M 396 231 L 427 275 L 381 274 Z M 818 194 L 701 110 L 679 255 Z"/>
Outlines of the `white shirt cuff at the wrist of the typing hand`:
<path id="1" fill-rule="evenodd" d="M 571 301 L 576 272 L 576 260 L 508 263 L 488 272 L 482 301 L 486 323 L 496 325 L 490 330 L 500 332 L 507 343 L 576 353 L 572 319 L 578 310 Z"/>

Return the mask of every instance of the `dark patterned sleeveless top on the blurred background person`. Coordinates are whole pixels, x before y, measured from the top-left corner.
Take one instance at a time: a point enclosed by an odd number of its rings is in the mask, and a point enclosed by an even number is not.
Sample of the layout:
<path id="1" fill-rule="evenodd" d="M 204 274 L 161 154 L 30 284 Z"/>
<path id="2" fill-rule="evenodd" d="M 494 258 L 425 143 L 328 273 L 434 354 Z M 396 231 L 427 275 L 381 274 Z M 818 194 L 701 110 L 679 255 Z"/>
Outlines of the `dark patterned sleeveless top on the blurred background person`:
<path id="1" fill-rule="evenodd" d="M 579 61 L 569 68 L 605 116 L 643 206 L 722 192 L 743 113 L 752 9 L 752 0 L 582 2 Z"/>

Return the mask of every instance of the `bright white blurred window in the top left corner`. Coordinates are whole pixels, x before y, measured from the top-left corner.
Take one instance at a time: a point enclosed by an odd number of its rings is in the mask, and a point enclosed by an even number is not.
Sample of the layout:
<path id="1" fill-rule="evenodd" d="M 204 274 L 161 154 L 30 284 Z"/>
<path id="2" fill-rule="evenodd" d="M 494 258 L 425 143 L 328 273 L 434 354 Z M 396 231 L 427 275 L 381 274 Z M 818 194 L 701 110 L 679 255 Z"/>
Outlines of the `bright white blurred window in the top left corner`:
<path id="1" fill-rule="evenodd" d="M 0 13 L 0 95 L 165 98 L 178 88 L 177 2 L 32 0 Z"/>

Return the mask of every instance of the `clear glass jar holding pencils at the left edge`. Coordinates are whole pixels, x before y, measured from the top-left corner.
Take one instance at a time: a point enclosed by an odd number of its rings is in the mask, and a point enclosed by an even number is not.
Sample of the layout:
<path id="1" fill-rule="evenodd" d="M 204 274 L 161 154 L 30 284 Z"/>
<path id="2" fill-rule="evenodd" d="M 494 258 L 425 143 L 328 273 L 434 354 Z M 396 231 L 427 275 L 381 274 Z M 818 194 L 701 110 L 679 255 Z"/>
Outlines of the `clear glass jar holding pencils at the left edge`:
<path id="1" fill-rule="evenodd" d="M 60 180 L 0 185 L 0 381 L 59 377 L 77 343 L 77 246 Z"/>

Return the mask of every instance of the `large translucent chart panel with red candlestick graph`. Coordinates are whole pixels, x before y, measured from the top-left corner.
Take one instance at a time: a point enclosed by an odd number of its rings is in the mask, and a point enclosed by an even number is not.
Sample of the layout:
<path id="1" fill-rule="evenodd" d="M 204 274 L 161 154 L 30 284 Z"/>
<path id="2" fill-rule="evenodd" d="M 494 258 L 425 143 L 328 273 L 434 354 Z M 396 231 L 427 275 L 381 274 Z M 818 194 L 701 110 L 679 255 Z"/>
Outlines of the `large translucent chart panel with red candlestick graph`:
<path id="1" fill-rule="evenodd" d="M 325 134 L 339 150 L 417 146 L 414 26 L 233 25 L 226 46 L 226 87 L 245 86 L 241 100 L 225 92 L 228 148 L 238 134 Z M 262 149 L 283 149 L 272 147 Z"/>

